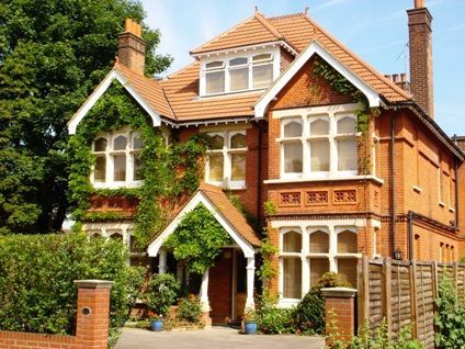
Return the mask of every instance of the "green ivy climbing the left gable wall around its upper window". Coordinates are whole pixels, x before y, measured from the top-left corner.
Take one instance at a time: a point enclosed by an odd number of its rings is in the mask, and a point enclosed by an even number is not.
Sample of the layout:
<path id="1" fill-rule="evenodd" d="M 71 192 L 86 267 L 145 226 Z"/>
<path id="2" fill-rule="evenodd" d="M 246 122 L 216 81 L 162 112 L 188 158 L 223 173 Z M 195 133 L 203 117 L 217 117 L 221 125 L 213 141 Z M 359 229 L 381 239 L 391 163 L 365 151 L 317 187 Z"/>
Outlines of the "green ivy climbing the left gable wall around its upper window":
<path id="1" fill-rule="evenodd" d="M 90 183 L 95 157 L 91 151 L 92 140 L 102 133 L 128 127 L 138 131 L 144 140 L 139 188 L 93 189 Z M 104 218 L 121 219 L 121 215 L 89 213 L 89 198 L 125 196 L 139 200 L 135 216 L 135 236 L 140 247 L 154 238 L 167 222 L 167 213 L 184 194 L 199 187 L 206 138 L 195 135 L 184 143 L 173 139 L 166 145 L 159 127 L 154 127 L 147 113 L 116 81 L 99 99 L 89 114 L 81 121 L 76 135 L 68 143 L 69 149 L 69 199 L 73 204 L 72 217 L 82 222 Z"/>

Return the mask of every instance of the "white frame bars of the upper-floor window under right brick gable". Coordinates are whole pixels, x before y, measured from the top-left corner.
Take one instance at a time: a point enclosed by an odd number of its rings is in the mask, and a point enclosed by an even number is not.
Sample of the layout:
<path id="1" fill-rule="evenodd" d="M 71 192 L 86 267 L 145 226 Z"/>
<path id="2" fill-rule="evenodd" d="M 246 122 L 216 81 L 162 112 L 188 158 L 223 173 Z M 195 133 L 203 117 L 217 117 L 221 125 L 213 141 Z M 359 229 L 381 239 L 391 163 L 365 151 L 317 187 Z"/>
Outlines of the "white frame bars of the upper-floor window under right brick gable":
<path id="1" fill-rule="evenodd" d="M 281 135 L 276 138 L 276 142 L 281 147 L 281 179 L 338 179 L 338 178 L 351 178 L 359 174 L 356 170 L 338 170 L 338 140 L 339 139 L 358 139 L 360 136 L 359 132 L 351 134 L 338 134 L 337 126 L 338 122 L 344 117 L 351 117 L 356 123 L 355 110 L 358 104 L 339 104 L 329 106 L 317 106 L 317 108 L 303 108 L 282 110 L 273 112 L 273 119 L 281 120 Z M 284 125 L 291 120 L 299 120 L 303 123 L 303 135 L 300 137 L 303 144 L 303 171 L 298 173 L 286 173 L 284 171 L 284 147 L 283 144 L 288 142 L 290 138 L 284 137 Z M 328 135 L 310 135 L 310 124 L 317 120 L 329 120 L 329 132 Z M 298 142 L 298 137 L 295 140 Z M 329 171 L 311 171 L 310 167 L 310 140 L 316 139 L 328 139 L 329 142 Z M 358 155 L 356 155 L 358 156 Z M 356 158 L 358 161 L 358 158 Z"/>

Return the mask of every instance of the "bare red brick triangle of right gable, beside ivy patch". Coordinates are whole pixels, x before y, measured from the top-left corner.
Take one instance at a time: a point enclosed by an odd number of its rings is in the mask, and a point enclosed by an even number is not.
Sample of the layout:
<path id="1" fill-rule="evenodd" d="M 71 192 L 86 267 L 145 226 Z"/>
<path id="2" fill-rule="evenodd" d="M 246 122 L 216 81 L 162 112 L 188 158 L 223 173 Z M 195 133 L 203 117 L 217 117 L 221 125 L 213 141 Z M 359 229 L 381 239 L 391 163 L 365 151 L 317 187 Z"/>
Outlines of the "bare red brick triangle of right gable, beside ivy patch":
<path id="1" fill-rule="evenodd" d="M 348 104 L 354 102 L 349 94 L 336 91 L 322 77 L 314 71 L 317 56 L 313 56 L 283 87 L 270 110 L 305 108 L 309 105 Z"/>

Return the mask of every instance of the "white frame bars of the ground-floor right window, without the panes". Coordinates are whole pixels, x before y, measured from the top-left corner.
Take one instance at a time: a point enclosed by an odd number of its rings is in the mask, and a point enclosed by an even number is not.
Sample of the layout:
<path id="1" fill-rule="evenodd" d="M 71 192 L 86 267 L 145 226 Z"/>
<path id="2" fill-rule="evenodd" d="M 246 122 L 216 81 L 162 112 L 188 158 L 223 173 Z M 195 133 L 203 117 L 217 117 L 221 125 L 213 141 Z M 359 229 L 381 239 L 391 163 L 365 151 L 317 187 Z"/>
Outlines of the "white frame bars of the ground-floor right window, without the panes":
<path id="1" fill-rule="evenodd" d="M 295 224 L 293 224 L 295 223 Z M 307 292 L 311 289 L 310 284 L 310 259 L 311 258 L 328 258 L 329 271 L 338 272 L 338 259 L 353 258 L 360 259 L 362 254 L 338 254 L 338 235 L 344 230 L 350 230 L 359 236 L 359 226 L 365 226 L 366 221 L 363 218 L 355 219 L 328 219 L 325 223 L 316 219 L 311 221 L 274 221 L 271 223 L 273 228 L 279 229 L 279 306 L 290 307 L 296 305 Z M 283 252 L 283 237 L 288 232 L 300 233 L 302 236 L 302 251 L 300 252 Z M 310 252 L 309 238 L 310 235 L 317 230 L 325 232 L 329 235 L 329 249 L 328 254 Z M 284 264 L 283 257 L 299 258 L 302 261 L 302 297 L 300 299 L 284 299 Z"/>

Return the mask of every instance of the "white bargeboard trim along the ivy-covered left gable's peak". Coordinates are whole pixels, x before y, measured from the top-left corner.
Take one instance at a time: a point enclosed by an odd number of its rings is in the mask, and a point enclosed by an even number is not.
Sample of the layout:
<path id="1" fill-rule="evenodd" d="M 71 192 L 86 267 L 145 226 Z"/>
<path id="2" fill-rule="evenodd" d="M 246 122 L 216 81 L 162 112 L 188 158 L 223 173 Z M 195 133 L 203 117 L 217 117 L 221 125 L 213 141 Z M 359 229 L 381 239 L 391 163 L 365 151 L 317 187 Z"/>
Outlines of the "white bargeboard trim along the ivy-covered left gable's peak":
<path id="1" fill-rule="evenodd" d="M 127 79 L 120 71 L 113 68 L 68 122 L 68 133 L 70 135 L 76 134 L 76 130 L 78 128 L 79 123 L 82 121 L 82 119 L 84 119 L 92 106 L 95 105 L 97 101 L 103 95 L 103 93 L 105 93 L 114 79 L 120 81 L 120 83 L 131 93 L 137 103 L 139 103 L 140 106 L 149 114 L 154 126 L 161 125 L 160 113 L 152 109 L 150 104 L 148 104 L 146 100 L 137 93 L 136 89 L 131 86 Z"/>

